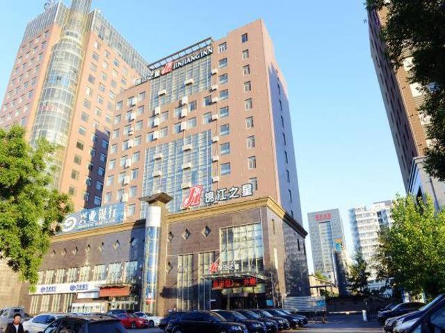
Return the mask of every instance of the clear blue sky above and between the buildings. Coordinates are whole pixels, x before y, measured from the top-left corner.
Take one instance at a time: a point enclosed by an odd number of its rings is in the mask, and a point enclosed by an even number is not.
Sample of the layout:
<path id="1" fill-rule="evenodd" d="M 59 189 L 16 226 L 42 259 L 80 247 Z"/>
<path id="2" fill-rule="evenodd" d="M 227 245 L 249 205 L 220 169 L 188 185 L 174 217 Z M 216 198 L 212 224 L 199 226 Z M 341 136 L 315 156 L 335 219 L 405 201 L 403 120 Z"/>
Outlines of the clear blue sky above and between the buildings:
<path id="1" fill-rule="evenodd" d="M 307 212 L 338 207 L 350 247 L 347 210 L 405 192 L 362 2 L 93 0 L 93 7 L 149 61 L 264 19 L 288 83 L 305 228 Z M 43 4 L 2 1 L 1 98 L 26 22 Z"/>

